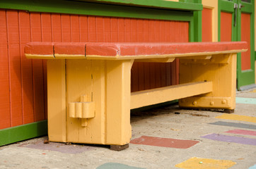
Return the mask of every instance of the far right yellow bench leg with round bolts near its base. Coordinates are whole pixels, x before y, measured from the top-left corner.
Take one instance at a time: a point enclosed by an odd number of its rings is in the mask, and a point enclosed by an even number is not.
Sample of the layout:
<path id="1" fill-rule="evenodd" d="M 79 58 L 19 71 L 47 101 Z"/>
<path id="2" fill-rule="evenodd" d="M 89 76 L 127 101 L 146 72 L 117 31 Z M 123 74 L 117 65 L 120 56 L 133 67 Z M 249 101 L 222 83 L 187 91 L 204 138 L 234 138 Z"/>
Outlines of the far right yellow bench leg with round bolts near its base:
<path id="1" fill-rule="evenodd" d="M 227 56 L 228 58 L 225 58 Z M 218 57 L 222 58 L 224 63 L 214 62 Z M 202 94 L 199 97 L 192 96 L 182 99 L 179 101 L 181 107 L 235 108 L 236 54 L 213 56 L 210 60 L 213 61 L 211 64 L 180 60 L 180 84 L 200 81 L 213 82 L 213 92 Z M 208 60 L 204 61 L 209 62 Z M 226 99 L 226 104 L 220 106 L 219 101 L 222 103 L 224 99 Z"/>

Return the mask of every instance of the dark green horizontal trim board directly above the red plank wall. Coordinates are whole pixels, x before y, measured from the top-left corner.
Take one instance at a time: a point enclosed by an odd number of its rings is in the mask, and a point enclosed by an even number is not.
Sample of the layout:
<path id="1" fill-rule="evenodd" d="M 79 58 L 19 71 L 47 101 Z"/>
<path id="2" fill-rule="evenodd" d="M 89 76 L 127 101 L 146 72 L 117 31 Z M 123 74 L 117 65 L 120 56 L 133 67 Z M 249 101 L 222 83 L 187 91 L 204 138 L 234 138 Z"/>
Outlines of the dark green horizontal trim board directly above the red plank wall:
<path id="1" fill-rule="evenodd" d="M 0 6 L 0 8 L 24 10 L 30 12 L 100 15 L 122 18 L 147 18 L 180 21 L 190 21 L 193 18 L 192 11 L 170 11 L 156 8 L 95 4 L 81 1 L 1 0 Z"/>

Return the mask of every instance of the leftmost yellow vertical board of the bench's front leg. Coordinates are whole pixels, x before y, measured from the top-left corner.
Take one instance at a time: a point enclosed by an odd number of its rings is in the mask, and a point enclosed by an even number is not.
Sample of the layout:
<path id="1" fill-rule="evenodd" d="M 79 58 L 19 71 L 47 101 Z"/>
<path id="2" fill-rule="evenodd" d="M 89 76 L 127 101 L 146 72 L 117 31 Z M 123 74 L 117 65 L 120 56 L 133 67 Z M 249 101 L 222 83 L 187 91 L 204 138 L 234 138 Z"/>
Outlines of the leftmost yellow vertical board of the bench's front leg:
<path id="1" fill-rule="evenodd" d="M 66 142 L 65 60 L 47 61 L 48 135 L 51 142 Z"/>

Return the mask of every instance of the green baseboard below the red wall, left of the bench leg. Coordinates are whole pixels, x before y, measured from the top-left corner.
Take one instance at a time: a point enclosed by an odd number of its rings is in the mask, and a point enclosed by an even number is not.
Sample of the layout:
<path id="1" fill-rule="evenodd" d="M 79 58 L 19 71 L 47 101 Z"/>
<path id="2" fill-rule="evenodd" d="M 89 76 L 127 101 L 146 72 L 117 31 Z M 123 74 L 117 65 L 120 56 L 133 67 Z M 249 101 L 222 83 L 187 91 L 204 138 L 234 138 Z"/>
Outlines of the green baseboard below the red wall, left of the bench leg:
<path id="1" fill-rule="evenodd" d="M 0 130 L 0 146 L 47 135 L 47 120 Z"/>

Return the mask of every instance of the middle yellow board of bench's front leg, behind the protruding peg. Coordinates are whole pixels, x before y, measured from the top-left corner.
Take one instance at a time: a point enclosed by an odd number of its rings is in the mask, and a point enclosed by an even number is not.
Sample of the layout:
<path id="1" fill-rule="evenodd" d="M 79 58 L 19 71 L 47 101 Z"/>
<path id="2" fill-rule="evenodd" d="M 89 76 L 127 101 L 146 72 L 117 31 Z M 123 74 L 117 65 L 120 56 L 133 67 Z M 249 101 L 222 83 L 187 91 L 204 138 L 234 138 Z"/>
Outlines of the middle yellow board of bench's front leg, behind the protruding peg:
<path id="1" fill-rule="evenodd" d="M 68 60 L 66 103 L 79 102 L 87 95 L 95 102 L 95 118 L 66 118 L 66 141 L 105 144 L 105 62 Z M 68 110 L 69 111 L 69 110 Z"/>

